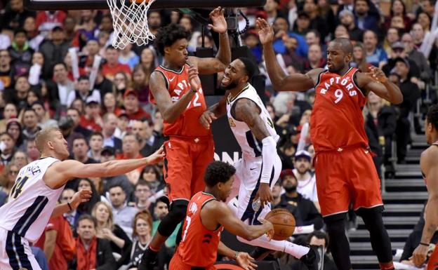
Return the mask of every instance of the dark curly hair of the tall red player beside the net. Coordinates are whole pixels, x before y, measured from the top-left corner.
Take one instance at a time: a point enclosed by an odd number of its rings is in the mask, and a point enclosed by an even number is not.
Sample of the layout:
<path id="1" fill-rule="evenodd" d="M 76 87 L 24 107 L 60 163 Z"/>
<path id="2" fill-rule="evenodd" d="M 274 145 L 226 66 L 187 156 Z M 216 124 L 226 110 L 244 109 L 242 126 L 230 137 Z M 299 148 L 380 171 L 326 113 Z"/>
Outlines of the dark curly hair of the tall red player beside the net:
<path id="1" fill-rule="evenodd" d="M 172 46 L 173 43 L 180 39 L 189 39 L 189 32 L 180 25 L 167 25 L 158 30 L 157 37 L 155 38 L 155 49 L 164 56 L 164 48 Z"/>

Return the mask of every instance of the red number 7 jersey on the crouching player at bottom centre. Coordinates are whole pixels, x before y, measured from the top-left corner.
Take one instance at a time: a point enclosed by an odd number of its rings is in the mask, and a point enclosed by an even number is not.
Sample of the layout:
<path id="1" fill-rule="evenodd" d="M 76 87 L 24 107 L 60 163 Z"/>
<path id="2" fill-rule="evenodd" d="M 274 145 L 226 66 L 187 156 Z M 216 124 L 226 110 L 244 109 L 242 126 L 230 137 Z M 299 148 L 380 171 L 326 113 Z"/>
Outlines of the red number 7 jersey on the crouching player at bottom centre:
<path id="1" fill-rule="evenodd" d="M 181 261 L 189 266 L 208 268 L 216 262 L 223 227 L 210 231 L 201 221 L 201 209 L 213 200 L 213 195 L 201 191 L 194 194 L 189 202 L 183 226 L 183 240 L 177 250 Z"/>

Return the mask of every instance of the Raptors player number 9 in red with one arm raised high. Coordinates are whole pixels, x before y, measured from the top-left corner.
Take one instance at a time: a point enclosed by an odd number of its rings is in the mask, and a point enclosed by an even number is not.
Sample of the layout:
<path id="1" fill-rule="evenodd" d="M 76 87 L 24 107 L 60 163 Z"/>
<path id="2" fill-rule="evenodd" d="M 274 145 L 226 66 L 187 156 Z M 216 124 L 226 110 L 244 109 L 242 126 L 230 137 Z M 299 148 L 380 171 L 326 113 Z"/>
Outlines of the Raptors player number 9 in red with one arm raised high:
<path id="1" fill-rule="evenodd" d="M 328 70 L 319 68 L 286 76 L 272 48 L 272 27 L 263 19 L 258 19 L 257 25 L 274 89 L 315 91 L 310 136 L 316 151 L 314 168 L 321 214 L 328 236 L 335 239 L 331 250 L 336 266 L 339 270 L 352 268 L 344 225 L 352 203 L 370 232 L 380 269 L 394 269 L 390 238 L 382 220 L 380 180 L 371 158 L 362 108 L 370 91 L 399 104 L 403 100 L 400 89 L 380 69 L 373 67 L 370 73 L 361 73 L 349 68 L 352 43 L 348 39 L 335 39 L 328 45 Z"/>

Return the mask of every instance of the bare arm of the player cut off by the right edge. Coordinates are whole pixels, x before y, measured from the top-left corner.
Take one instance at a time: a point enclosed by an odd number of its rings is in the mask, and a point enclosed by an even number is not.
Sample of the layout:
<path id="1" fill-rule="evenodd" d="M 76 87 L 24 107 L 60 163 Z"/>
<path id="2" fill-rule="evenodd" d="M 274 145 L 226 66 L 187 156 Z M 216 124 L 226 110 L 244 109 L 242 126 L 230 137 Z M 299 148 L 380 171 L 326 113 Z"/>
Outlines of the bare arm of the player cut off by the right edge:
<path id="1" fill-rule="evenodd" d="M 421 235 L 420 245 L 413 250 L 413 263 L 421 266 L 426 259 L 429 243 L 438 228 L 438 149 L 431 147 L 421 154 L 420 167 L 427 179 L 427 205 L 425 209 L 425 227 Z"/>

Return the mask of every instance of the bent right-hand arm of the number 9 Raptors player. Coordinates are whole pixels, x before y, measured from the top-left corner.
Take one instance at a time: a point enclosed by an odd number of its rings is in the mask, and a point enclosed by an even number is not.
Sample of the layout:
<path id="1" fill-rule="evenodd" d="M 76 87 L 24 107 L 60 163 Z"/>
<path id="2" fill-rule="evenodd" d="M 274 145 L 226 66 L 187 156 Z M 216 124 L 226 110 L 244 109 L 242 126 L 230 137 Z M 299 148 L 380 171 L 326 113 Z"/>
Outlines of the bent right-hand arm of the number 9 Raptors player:
<path id="1" fill-rule="evenodd" d="M 370 91 L 374 92 L 379 97 L 393 104 L 403 102 L 403 95 L 401 94 L 400 88 L 390 82 L 383 71 L 377 67 L 370 67 L 370 72 L 358 72 L 357 84 L 359 84 L 359 88 L 364 89 L 366 93 Z"/>

